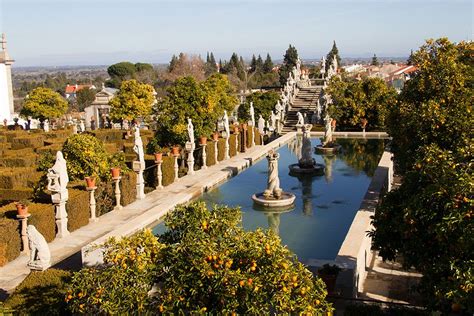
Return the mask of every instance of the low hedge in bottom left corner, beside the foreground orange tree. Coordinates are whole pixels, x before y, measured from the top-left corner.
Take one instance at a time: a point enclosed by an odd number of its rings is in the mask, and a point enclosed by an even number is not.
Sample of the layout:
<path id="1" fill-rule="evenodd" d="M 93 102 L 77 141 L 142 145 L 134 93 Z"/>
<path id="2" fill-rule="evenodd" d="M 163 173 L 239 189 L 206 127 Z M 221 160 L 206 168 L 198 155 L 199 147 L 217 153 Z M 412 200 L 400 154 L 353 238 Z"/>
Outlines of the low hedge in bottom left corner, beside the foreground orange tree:
<path id="1" fill-rule="evenodd" d="M 5 302 L 19 315 L 70 315 L 65 302 L 72 273 L 48 269 L 30 273 Z"/>

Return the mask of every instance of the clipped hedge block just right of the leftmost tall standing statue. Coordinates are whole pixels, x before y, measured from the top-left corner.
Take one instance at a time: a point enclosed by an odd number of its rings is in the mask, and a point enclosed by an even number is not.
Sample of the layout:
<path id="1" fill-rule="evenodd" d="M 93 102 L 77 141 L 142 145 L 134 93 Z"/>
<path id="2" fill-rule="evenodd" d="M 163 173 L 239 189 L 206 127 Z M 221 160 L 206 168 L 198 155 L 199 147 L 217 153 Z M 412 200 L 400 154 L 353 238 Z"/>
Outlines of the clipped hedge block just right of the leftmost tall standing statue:
<path id="1" fill-rule="evenodd" d="M 100 204 L 101 201 L 96 201 Z M 69 200 L 66 203 L 67 228 L 70 232 L 89 224 L 90 205 L 89 192 L 69 189 Z"/>

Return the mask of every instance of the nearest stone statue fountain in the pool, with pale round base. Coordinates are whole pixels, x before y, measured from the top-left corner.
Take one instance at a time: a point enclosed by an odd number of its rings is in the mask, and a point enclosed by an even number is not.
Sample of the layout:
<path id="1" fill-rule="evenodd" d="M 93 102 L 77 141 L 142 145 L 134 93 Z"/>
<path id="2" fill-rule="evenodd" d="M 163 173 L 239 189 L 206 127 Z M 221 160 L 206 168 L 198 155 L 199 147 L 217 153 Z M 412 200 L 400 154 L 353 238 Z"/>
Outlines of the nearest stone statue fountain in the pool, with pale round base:
<path id="1" fill-rule="evenodd" d="M 267 154 L 268 160 L 268 184 L 264 192 L 252 195 L 252 200 L 265 207 L 279 208 L 293 204 L 295 195 L 289 192 L 283 192 L 280 188 L 280 179 L 278 178 L 278 158 L 280 154 L 270 151 Z"/>

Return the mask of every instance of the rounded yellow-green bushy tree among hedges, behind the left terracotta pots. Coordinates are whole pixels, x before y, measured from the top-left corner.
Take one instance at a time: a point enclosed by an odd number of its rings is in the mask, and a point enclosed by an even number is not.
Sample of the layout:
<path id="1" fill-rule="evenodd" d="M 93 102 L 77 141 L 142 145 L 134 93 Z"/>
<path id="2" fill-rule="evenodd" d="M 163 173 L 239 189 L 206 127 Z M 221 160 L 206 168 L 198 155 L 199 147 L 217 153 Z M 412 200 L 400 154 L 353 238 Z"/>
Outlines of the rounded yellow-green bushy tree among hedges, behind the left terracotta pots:
<path id="1" fill-rule="evenodd" d="M 75 134 L 63 146 L 70 180 L 93 176 L 102 180 L 110 177 L 109 157 L 104 144 L 90 134 Z"/>

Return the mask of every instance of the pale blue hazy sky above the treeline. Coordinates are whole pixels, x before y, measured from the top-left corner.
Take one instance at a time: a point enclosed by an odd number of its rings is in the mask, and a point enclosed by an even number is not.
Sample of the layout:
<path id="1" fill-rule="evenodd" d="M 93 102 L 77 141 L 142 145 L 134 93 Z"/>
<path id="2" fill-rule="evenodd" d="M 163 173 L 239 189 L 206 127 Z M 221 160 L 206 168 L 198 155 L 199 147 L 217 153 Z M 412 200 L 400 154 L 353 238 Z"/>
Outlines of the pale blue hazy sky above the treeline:
<path id="1" fill-rule="evenodd" d="M 474 0 L 0 0 L 14 66 L 167 63 L 185 52 L 229 59 L 289 44 L 319 59 L 404 57 L 425 39 L 472 40 Z"/>

